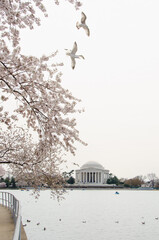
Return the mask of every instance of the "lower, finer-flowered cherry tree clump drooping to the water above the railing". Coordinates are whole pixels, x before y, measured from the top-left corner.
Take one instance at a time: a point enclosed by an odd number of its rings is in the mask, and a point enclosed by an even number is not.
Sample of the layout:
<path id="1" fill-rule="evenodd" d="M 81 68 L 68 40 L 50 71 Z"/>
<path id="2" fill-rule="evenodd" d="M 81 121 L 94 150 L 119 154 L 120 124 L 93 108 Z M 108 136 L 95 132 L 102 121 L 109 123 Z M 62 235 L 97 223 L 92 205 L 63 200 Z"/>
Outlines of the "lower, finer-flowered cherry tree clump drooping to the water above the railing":
<path id="1" fill-rule="evenodd" d="M 50 187 L 57 197 L 63 192 L 64 178 L 59 166 L 64 162 L 61 148 L 43 141 L 33 143 L 32 136 L 23 128 L 1 133 L 0 164 L 9 165 L 17 183 L 25 186 Z M 21 185 L 21 184 L 20 184 Z"/>

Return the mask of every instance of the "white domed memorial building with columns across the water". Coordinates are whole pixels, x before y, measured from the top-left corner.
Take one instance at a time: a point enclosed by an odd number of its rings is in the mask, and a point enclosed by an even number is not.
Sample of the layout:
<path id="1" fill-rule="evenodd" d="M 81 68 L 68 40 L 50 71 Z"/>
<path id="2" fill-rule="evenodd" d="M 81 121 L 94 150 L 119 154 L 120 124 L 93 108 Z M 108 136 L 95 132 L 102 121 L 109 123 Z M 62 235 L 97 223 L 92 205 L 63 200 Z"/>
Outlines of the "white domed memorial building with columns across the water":
<path id="1" fill-rule="evenodd" d="M 101 185 L 106 184 L 109 178 L 109 170 L 98 162 L 86 162 L 79 170 L 76 170 L 76 184 Z"/>

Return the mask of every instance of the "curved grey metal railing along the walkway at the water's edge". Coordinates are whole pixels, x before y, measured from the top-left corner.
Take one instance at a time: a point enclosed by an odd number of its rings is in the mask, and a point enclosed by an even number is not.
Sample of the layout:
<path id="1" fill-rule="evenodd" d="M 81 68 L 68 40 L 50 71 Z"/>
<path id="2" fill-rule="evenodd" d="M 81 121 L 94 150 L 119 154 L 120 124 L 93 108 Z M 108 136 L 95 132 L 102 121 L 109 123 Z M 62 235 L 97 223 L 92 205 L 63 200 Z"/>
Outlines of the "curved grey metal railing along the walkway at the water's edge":
<path id="1" fill-rule="evenodd" d="M 0 192 L 0 204 L 11 210 L 15 229 L 13 240 L 21 240 L 21 207 L 19 201 L 13 194 L 8 192 Z"/>

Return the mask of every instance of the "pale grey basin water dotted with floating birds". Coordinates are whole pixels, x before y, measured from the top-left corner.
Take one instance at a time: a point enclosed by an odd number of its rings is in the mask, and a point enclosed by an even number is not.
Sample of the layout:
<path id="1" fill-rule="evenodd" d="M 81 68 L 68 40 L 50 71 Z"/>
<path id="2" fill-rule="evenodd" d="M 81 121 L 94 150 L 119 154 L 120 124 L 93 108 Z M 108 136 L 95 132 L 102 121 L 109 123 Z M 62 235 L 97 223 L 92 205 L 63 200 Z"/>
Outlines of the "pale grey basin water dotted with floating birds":
<path id="1" fill-rule="evenodd" d="M 21 202 L 28 240 L 158 240 L 159 191 L 115 191 L 68 190 L 60 203 L 49 190 L 38 200 L 31 191 L 9 192 Z"/>

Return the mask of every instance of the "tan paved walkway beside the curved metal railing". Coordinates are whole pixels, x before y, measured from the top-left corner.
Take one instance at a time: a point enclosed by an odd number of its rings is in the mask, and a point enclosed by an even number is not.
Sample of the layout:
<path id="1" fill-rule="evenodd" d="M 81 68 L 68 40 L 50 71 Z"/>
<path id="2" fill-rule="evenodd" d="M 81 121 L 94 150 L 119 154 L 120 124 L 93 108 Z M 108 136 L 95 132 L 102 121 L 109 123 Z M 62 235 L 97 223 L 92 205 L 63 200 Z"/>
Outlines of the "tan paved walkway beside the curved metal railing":
<path id="1" fill-rule="evenodd" d="M 12 214 L 8 208 L 0 205 L 0 240 L 12 240 L 14 234 L 14 222 Z M 22 227 L 21 240 L 27 240 Z"/>

